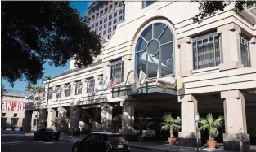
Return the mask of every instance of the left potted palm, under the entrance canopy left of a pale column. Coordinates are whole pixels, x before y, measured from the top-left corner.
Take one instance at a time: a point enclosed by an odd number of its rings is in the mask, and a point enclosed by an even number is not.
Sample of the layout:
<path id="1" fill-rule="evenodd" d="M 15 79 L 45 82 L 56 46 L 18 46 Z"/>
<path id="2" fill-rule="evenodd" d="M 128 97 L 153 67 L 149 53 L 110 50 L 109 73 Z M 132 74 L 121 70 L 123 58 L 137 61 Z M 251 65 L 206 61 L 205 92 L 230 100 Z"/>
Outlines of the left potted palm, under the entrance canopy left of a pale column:
<path id="1" fill-rule="evenodd" d="M 173 132 L 181 128 L 181 119 L 174 119 L 170 113 L 166 113 L 163 116 L 164 122 L 162 123 L 162 130 L 169 131 L 170 137 L 168 138 L 169 144 L 174 145 L 177 141 L 177 138 L 174 137 Z"/>

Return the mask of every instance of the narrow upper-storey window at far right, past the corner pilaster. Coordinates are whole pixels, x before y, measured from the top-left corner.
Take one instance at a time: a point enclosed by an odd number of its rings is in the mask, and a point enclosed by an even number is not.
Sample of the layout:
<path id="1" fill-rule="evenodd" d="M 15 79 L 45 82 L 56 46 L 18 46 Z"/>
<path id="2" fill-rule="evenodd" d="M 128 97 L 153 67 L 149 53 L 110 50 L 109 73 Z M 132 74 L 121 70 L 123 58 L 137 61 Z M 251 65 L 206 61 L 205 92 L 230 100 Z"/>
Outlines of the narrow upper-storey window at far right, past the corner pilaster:
<path id="1" fill-rule="evenodd" d="M 250 67 L 249 41 L 247 41 L 244 37 L 240 37 L 240 54 L 241 62 L 244 67 Z"/>

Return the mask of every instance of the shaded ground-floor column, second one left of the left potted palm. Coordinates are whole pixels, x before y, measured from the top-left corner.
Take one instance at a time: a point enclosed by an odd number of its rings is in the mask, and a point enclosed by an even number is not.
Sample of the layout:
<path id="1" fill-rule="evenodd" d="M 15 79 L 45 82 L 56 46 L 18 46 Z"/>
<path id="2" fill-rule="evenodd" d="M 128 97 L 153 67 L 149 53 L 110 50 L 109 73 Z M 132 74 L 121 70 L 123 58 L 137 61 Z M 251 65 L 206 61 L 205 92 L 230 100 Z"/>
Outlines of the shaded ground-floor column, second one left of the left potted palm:
<path id="1" fill-rule="evenodd" d="M 103 132 L 111 132 L 113 106 L 108 103 L 101 104 L 101 127 Z"/>

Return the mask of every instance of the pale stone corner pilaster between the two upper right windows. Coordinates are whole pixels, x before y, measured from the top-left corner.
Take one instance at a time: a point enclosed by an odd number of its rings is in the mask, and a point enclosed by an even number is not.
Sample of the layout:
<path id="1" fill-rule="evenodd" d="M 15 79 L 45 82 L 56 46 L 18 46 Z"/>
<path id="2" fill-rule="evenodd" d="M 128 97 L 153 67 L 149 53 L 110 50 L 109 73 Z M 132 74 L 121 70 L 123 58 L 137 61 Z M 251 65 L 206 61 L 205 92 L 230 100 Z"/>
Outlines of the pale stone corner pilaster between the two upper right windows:
<path id="1" fill-rule="evenodd" d="M 241 28 L 234 24 L 226 24 L 217 28 L 222 33 L 222 63 L 220 71 L 243 67 L 240 56 L 240 33 Z"/>

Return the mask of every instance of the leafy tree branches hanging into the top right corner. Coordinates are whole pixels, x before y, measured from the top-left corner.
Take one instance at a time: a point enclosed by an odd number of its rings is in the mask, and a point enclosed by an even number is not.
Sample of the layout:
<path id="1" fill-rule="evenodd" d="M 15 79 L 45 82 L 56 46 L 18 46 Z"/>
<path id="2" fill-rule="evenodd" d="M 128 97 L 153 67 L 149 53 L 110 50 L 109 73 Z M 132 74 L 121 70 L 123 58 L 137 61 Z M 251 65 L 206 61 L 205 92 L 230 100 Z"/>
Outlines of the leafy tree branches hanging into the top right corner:
<path id="1" fill-rule="evenodd" d="M 191 0 L 191 2 L 197 2 L 199 6 L 199 14 L 195 15 L 193 21 L 195 23 L 201 23 L 205 18 L 215 15 L 218 11 L 224 11 L 224 8 L 235 2 L 236 11 L 243 11 L 246 5 L 253 5 L 255 1 L 199 1 Z"/>

